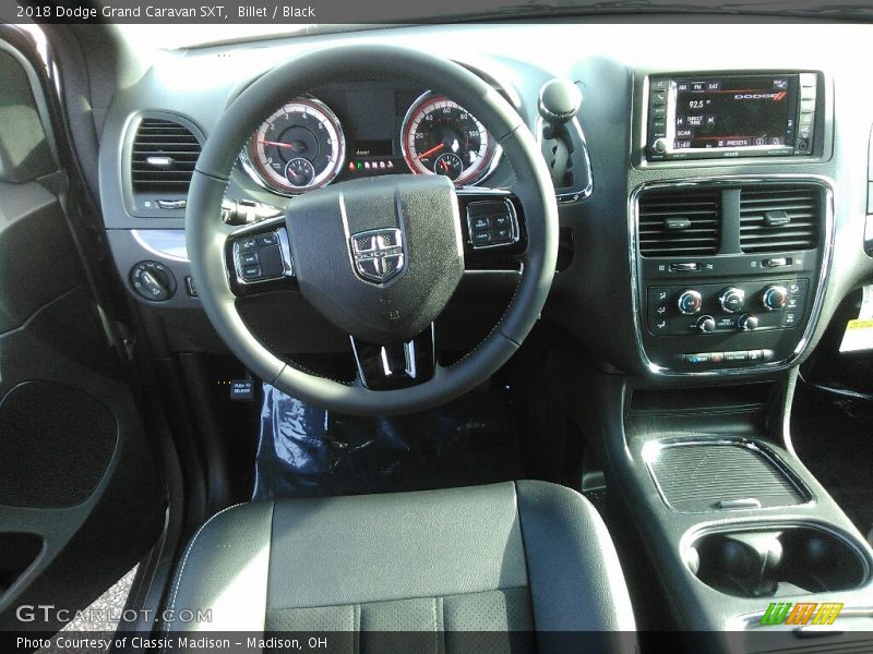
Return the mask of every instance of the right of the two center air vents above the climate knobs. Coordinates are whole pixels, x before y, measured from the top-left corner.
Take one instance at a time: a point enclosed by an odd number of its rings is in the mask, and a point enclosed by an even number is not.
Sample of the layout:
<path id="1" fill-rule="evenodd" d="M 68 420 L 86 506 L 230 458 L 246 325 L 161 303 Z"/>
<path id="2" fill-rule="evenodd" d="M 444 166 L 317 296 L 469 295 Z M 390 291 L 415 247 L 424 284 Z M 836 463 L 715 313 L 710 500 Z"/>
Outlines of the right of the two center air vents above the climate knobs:
<path id="1" fill-rule="evenodd" d="M 822 191 L 802 184 L 740 192 L 740 249 L 746 253 L 812 250 L 818 245 Z"/>

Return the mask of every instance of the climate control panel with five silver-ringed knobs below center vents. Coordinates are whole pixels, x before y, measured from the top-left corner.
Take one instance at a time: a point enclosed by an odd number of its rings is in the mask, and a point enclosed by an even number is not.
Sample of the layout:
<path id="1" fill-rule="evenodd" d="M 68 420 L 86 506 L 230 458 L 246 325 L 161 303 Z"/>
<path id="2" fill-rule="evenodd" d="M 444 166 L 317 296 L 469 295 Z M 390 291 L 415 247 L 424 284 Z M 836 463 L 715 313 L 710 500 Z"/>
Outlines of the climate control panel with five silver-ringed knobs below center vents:
<path id="1" fill-rule="evenodd" d="M 686 336 L 791 329 L 803 318 L 809 284 L 779 279 L 648 287 L 648 330 Z"/>

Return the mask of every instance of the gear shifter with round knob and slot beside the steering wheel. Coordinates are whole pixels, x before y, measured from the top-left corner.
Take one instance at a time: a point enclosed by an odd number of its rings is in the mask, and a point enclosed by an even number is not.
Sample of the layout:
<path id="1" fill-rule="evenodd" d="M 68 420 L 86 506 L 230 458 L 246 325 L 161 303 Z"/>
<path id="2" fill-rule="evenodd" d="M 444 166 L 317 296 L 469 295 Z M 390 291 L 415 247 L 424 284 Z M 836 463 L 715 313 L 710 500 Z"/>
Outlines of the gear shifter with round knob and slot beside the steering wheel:
<path id="1" fill-rule="evenodd" d="M 591 164 L 578 121 L 581 107 L 582 92 L 570 80 L 555 77 L 540 88 L 540 147 L 559 202 L 584 199 L 591 191 Z"/>

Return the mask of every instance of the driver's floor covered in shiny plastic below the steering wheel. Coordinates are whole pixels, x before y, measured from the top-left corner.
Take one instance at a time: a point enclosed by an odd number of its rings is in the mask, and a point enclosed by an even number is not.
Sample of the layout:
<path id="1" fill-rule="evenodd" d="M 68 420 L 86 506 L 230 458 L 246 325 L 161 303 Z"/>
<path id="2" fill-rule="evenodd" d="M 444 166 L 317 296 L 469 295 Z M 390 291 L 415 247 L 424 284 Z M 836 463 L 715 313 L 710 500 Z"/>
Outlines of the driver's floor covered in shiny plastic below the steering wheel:
<path id="1" fill-rule="evenodd" d="M 367 419 L 264 385 L 254 500 L 466 486 L 522 473 L 518 421 L 500 389 L 414 415 Z"/>

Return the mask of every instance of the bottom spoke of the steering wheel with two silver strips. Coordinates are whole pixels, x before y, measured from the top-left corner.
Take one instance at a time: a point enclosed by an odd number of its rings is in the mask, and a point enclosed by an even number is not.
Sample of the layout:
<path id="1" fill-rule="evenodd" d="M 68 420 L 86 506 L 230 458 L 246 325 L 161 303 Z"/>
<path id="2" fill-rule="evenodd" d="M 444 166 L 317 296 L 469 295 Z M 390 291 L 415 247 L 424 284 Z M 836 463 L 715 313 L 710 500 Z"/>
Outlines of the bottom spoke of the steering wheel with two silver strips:
<path id="1" fill-rule="evenodd" d="M 412 340 L 392 346 L 367 343 L 354 336 L 351 350 L 358 382 L 369 390 L 397 390 L 429 382 L 436 368 L 433 324 Z"/>

